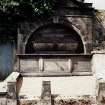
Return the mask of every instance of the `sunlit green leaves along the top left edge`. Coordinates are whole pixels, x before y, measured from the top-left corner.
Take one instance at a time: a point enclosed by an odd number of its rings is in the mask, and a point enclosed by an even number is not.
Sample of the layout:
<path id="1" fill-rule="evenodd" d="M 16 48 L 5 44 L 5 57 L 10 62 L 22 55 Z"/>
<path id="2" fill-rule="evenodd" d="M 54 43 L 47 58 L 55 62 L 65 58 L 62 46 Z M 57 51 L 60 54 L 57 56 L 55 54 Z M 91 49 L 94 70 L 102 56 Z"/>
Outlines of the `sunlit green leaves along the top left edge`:
<path id="1" fill-rule="evenodd" d="M 19 15 L 51 14 L 56 0 L 0 0 L 0 9 Z"/>

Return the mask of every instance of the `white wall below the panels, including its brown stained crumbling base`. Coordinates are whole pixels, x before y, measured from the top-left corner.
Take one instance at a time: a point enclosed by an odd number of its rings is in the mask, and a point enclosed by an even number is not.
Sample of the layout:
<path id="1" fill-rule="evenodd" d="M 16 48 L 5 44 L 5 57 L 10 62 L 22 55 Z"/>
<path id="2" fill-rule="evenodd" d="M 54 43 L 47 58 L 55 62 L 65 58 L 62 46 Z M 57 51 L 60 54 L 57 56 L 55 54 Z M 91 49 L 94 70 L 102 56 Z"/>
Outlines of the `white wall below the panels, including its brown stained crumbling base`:
<path id="1" fill-rule="evenodd" d="M 75 103 L 76 105 L 83 103 L 87 103 L 87 105 L 96 104 L 96 96 L 98 95 L 96 79 L 93 76 L 83 76 L 24 77 L 19 92 L 21 105 L 40 104 L 42 81 L 51 82 L 51 100 L 54 105 L 67 105 L 70 103 Z"/>

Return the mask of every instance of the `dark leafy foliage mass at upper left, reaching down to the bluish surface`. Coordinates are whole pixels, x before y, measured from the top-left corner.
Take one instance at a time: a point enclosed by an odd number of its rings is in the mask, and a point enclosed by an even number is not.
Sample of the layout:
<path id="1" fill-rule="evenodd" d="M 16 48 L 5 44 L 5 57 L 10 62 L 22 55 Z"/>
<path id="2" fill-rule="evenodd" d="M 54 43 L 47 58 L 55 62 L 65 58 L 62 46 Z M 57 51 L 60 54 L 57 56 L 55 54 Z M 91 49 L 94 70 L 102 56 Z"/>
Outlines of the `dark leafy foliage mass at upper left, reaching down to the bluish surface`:
<path id="1" fill-rule="evenodd" d="M 31 16 L 50 16 L 55 4 L 56 0 L 0 0 L 0 41 L 16 42 L 18 22 Z"/>

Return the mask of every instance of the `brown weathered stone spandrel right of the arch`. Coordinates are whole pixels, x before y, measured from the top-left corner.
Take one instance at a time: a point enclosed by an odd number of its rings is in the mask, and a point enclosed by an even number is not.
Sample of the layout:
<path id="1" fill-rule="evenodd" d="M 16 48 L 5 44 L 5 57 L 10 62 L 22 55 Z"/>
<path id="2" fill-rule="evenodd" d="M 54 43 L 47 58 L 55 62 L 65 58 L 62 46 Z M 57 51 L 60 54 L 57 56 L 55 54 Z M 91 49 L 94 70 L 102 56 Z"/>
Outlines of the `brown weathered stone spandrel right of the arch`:
<path id="1" fill-rule="evenodd" d="M 77 33 L 82 36 L 86 53 L 91 53 L 93 49 L 93 19 L 90 17 L 67 17 L 67 20 L 72 23 Z"/>

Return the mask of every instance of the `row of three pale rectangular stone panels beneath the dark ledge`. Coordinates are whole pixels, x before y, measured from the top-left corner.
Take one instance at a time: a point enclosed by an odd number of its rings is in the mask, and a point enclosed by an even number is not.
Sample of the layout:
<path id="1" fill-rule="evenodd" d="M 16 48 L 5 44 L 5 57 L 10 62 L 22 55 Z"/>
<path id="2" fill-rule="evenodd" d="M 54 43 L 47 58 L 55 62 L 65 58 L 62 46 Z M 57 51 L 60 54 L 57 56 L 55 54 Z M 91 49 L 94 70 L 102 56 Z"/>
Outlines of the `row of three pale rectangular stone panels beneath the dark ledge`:
<path id="1" fill-rule="evenodd" d="M 91 73 L 91 58 L 83 56 L 68 57 L 26 57 L 20 59 L 20 71 L 25 73 L 62 74 Z"/>

